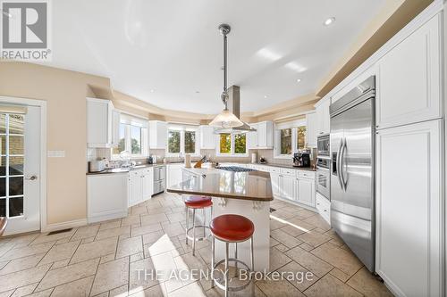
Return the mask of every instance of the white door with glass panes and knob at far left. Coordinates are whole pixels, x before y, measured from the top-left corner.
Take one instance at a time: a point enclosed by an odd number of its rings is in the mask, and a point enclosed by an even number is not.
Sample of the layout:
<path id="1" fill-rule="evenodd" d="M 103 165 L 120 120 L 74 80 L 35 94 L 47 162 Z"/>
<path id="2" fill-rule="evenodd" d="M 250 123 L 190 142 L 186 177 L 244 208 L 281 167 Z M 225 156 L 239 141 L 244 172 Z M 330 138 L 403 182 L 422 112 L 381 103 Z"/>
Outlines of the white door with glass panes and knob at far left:
<path id="1" fill-rule="evenodd" d="M 0 112 L 0 217 L 4 235 L 40 229 L 40 107 Z"/>

